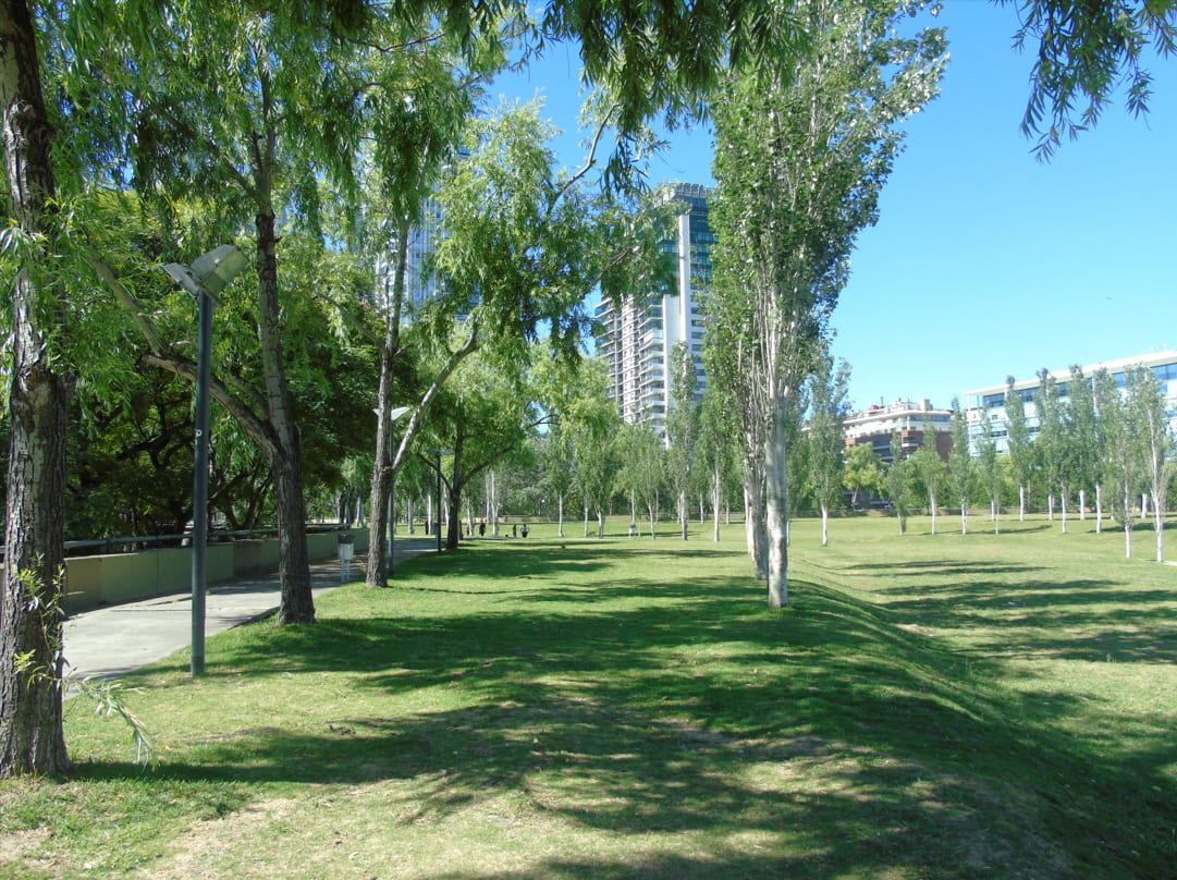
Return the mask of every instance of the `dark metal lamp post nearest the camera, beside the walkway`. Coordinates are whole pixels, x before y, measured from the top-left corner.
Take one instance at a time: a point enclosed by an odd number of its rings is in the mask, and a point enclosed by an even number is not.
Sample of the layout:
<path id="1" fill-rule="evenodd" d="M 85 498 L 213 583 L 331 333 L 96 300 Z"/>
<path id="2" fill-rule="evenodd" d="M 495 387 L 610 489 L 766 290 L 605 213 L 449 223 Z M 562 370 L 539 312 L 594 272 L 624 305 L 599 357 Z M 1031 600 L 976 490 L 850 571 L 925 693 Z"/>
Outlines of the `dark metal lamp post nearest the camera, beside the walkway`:
<path id="1" fill-rule="evenodd" d="M 205 671 L 205 556 L 208 548 L 208 385 L 212 382 L 213 306 L 217 295 L 242 269 L 246 258 L 233 245 L 221 245 L 193 262 L 168 263 L 165 271 L 200 306 L 197 337 L 195 475 L 192 481 L 192 675 Z"/>

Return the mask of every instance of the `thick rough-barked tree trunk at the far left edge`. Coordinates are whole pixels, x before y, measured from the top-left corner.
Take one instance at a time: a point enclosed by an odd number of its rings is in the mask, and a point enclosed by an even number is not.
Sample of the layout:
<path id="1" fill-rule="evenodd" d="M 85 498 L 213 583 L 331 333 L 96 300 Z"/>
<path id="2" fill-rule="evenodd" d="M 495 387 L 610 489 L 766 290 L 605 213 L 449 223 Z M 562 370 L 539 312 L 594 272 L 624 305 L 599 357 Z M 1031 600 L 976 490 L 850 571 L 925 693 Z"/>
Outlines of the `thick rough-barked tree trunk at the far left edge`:
<path id="1" fill-rule="evenodd" d="M 36 37 L 22 0 L 0 2 L 0 98 L 9 207 L 21 232 L 45 232 L 55 196 Z M 65 330 L 65 297 L 39 291 L 27 265 L 13 290 L 7 524 L 0 591 L 0 778 L 69 766 L 61 724 L 66 428 L 69 383 L 47 344 Z M 48 315 L 38 303 L 49 304 Z M 29 583 L 28 576 L 34 583 Z M 40 591 L 36 602 L 27 585 Z M 18 668 L 16 657 L 28 662 Z"/>

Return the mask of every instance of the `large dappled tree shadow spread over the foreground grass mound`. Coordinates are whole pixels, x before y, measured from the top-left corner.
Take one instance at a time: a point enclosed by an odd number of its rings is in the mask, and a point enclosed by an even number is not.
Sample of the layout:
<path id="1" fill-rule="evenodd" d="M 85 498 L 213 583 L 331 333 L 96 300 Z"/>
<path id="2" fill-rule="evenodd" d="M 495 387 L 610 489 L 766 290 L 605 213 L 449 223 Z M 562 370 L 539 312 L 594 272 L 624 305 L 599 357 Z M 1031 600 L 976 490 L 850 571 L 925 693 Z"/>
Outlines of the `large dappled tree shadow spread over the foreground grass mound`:
<path id="1" fill-rule="evenodd" d="M 1177 760 L 1169 741 L 1089 748 L 1050 723 L 1073 695 L 996 688 L 983 660 L 971 679 L 958 655 L 895 626 L 906 611 L 802 581 L 783 614 L 743 578 L 599 589 L 617 607 L 565 590 L 563 611 L 496 611 L 492 594 L 458 615 L 386 611 L 245 640 L 225 662 L 247 677 L 347 671 L 391 699 L 454 687 L 466 704 L 322 707 L 285 729 L 185 743 L 185 761 L 157 774 L 395 782 L 413 822 L 518 792 L 633 848 L 514 876 L 1162 878 L 1177 859 L 1177 795 L 1153 785 Z M 395 607 L 394 591 L 380 597 Z M 651 834 L 699 835 L 711 855 L 646 852 Z"/>

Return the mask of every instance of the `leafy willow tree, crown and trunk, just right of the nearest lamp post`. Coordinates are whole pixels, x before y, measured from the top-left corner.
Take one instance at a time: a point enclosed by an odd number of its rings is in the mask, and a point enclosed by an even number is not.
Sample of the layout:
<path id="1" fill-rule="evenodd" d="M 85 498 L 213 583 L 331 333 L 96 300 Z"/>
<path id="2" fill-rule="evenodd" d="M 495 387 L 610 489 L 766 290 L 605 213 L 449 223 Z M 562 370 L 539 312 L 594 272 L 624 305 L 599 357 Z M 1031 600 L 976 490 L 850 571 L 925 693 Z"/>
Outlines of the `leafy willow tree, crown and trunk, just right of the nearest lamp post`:
<path id="1" fill-rule="evenodd" d="M 100 121 L 112 144 L 95 156 L 108 163 L 95 177 L 133 186 L 164 214 L 181 198 L 202 199 L 221 219 L 221 234 L 252 239 L 260 369 L 251 383 L 226 377 L 232 395 L 217 383 L 212 393 L 230 411 L 250 411 L 246 430 L 270 464 L 279 621 L 313 621 L 302 441 L 282 322 L 292 296 L 284 238 L 304 229 L 321 240 L 320 187 L 332 180 L 346 190 L 365 134 L 360 107 L 372 72 L 359 47 L 393 40 L 395 22 L 374 7 L 314 0 L 98 7 L 100 32 L 88 37 L 84 52 L 62 53 L 64 65 L 95 71 L 95 88 L 105 94 Z M 72 18 L 75 7 L 60 8 L 59 31 L 73 35 L 85 22 Z M 81 85 L 72 93 L 80 108 L 98 97 Z M 88 131 L 84 114 L 78 117 Z M 189 258 L 205 245 L 186 241 L 181 229 L 175 236 Z M 192 377 L 187 359 L 153 349 L 151 364 Z"/>

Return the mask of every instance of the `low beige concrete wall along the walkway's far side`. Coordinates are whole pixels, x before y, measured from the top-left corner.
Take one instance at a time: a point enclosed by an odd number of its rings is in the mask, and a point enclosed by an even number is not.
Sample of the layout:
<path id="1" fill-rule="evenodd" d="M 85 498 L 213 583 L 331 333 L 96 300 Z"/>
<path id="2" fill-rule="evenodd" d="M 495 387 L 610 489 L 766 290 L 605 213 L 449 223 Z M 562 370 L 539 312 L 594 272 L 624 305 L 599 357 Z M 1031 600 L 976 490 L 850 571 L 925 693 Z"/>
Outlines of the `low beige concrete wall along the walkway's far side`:
<path id="1" fill-rule="evenodd" d="M 352 536 L 357 554 L 367 553 L 367 529 L 314 532 L 307 535 L 311 560 L 337 558 L 340 534 Z M 205 578 L 211 584 L 257 577 L 277 569 L 278 538 L 210 544 L 205 555 Z M 66 611 L 184 593 L 192 589 L 192 550 L 73 556 L 66 560 Z"/>

